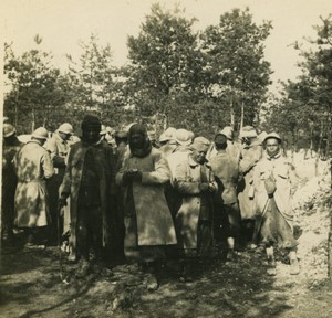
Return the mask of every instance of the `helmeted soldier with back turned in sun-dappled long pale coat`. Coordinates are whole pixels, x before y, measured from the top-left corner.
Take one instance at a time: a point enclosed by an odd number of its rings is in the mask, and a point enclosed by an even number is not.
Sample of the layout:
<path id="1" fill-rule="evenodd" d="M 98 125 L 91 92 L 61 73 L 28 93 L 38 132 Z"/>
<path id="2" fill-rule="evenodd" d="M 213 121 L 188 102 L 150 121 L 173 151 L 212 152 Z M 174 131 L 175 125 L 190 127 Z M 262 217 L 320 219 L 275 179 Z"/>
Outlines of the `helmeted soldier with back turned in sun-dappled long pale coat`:
<path id="1" fill-rule="evenodd" d="M 50 153 L 42 147 L 46 139 L 48 130 L 37 128 L 13 159 L 18 177 L 14 224 L 24 229 L 27 247 L 42 245 L 42 230 L 50 224 L 46 180 L 53 177 L 54 168 Z"/>

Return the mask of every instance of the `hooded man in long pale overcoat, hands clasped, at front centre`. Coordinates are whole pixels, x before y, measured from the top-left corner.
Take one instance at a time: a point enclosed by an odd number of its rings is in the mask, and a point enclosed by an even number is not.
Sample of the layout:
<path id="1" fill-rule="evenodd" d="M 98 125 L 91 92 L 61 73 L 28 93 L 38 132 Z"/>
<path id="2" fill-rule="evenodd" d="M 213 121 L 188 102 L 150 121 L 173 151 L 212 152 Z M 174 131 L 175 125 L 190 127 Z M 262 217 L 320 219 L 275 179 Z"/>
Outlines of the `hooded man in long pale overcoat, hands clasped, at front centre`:
<path id="1" fill-rule="evenodd" d="M 124 187 L 125 255 L 142 263 L 148 274 L 147 288 L 156 289 L 157 261 L 165 246 L 177 243 L 164 186 L 169 181 L 166 159 L 152 147 L 144 126 L 134 124 L 128 131 L 129 152 L 116 174 Z"/>

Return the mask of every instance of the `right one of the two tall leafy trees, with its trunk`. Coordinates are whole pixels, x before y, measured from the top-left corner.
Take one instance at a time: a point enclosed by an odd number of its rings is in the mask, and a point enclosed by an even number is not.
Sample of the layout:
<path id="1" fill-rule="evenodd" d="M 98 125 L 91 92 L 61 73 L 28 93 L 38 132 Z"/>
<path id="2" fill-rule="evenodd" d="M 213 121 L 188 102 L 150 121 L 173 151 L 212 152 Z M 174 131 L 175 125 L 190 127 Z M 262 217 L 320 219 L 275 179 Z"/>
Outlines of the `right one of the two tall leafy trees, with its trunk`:
<path id="1" fill-rule="evenodd" d="M 229 105 L 237 128 L 252 125 L 264 102 L 271 70 L 263 60 L 263 42 L 271 28 L 270 22 L 257 25 L 249 9 L 234 9 L 220 15 L 218 25 L 208 26 L 201 34 L 207 61 L 206 89 Z M 245 123 L 240 123 L 241 116 Z"/>

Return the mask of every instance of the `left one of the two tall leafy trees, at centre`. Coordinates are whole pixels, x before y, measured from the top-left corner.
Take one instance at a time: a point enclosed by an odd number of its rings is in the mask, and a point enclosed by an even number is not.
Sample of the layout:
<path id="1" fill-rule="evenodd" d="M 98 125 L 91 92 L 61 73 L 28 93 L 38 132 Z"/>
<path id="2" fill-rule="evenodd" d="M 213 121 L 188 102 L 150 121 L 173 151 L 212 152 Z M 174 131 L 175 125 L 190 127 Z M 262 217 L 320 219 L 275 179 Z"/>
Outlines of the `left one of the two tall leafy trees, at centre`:
<path id="1" fill-rule="evenodd" d="M 201 73 L 201 53 L 197 34 L 191 30 L 195 19 L 180 17 L 180 11 L 163 11 L 159 4 L 142 24 L 137 38 L 128 36 L 132 78 L 138 88 L 136 107 L 145 113 L 162 113 L 165 118 L 178 94 L 195 95 Z"/>

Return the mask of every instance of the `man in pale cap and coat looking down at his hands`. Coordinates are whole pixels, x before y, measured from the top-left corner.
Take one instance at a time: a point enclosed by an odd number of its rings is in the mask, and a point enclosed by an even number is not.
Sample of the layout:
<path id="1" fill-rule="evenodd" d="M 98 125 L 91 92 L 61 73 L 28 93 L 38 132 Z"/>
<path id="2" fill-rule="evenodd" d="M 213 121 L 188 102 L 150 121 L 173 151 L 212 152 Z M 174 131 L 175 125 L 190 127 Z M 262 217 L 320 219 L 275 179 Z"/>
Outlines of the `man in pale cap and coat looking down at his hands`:
<path id="1" fill-rule="evenodd" d="M 176 227 L 184 279 L 191 279 L 191 257 L 210 256 L 212 246 L 212 195 L 217 190 L 214 173 L 206 166 L 206 153 L 210 142 L 197 137 L 191 145 L 193 152 L 181 161 L 174 176 L 175 189 L 183 197 L 183 204 L 176 215 Z"/>

